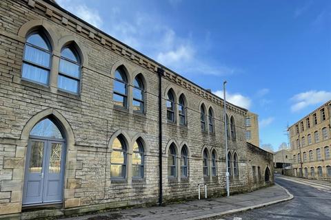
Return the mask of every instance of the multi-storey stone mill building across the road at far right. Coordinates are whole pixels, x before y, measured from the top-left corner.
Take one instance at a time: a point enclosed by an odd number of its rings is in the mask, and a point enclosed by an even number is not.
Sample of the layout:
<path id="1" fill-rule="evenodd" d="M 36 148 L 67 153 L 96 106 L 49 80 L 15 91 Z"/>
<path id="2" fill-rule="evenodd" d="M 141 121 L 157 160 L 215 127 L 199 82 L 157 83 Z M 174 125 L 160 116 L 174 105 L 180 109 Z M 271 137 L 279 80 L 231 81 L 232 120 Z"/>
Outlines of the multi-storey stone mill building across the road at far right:
<path id="1" fill-rule="evenodd" d="M 331 100 L 289 127 L 295 176 L 331 180 Z"/>

